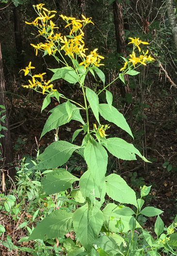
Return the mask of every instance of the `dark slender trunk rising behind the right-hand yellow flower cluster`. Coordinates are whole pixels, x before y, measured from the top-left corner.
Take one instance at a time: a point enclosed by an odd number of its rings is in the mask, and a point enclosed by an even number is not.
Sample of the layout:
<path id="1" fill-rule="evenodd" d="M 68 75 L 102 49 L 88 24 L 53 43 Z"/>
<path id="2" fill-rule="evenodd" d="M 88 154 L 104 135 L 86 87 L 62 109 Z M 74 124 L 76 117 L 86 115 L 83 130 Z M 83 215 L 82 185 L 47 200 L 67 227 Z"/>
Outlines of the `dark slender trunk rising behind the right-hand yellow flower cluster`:
<path id="1" fill-rule="evenodd" d="M 118 0 L 113 2 L 113 17 L 115 25 L 115 37 L 117 42 L 117 52 L 122 53 L 126 56 L 126 42 L 124 35 L 124 20 L 123 20 L 123 11 L 122 5 L 118 3 Z M 124 76 L 125 81 L 127 81 L 126 86 L 121 86 L 121 96 L 126 97 L 126 93 L 129 93 L 129 77 L 128 75 Z"/>

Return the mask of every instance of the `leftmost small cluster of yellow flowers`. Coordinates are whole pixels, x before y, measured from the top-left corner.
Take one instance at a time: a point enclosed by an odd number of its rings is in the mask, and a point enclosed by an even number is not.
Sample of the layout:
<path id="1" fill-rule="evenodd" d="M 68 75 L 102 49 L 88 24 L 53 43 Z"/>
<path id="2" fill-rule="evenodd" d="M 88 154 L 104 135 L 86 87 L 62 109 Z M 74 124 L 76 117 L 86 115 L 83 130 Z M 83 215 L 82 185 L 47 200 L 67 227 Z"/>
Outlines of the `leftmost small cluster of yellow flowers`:
<path id="1" fill-rule="evenodd" d="M 49 84 L 50 80 L 48 80 L 48 82 L 46 80 L 44 81 L 43 76 L 46 73 L 42 73 L 42 74 L 39 74 L 39 75 L 32 76 L 31 69 L 35 68 L 35 67 L 32 67 L 31 64 L 32 64 L 32 62 L 30 61 L 28 67 L 26 67 L 25 69 L 21 69 L 22 71 L 25 72 L 25 76 L 29 74 L 32 77 L 32 81 L 30 79 L 28 80 L 29 81 L 28 85 L 22 85 L 22 86 L 25 87 L 25 88 L 34 88 L 34 87 L 35 87 L 35 89 L 41 88 L 42 89 L 42 94 L 44 94 L 45 91 L 48 90 L 49 88 L 51 88 L 52 91 L 56 91 L 56 90 L 52 89 L 53 84 Z M 38 81 L 35 78 L 40 78 L 41 81 Z"/>

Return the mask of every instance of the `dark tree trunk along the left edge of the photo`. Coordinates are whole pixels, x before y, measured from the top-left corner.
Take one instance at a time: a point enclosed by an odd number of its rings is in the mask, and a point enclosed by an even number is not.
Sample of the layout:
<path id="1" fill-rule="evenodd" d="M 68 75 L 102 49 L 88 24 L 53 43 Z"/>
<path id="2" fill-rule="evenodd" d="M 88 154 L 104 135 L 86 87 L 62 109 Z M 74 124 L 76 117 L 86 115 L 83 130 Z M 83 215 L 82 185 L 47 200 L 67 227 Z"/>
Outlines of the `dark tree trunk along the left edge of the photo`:
<path id="1" fill-rule="evenodd" d="M 7 131 L 1 130 L 1 134 L 4 135 L 1 138 L 2 144 L 2 156 L 4 158 L 4 163 L 7 165 L 8 163 L 13 162 L 13 154 L 12 154 L 12 145 L 11 145 L 11 135 L 10 135 L 10 128 L 9 128 L 9 118 L 7 114 L 7 101 L 5 96 L 5 79 L 4 79 L 4 72 L 3 72 L 3 62 L 2 62 L 2 53 L 1 53 L 1 46 L 0 46 L 0 105 L 5 106 L 6 109 L 6 118 L 3 126 L 7 128 Z M 10 169 L 8 171 L 10 177 L 13 179 L 15 176 L 15 168 Z"/>

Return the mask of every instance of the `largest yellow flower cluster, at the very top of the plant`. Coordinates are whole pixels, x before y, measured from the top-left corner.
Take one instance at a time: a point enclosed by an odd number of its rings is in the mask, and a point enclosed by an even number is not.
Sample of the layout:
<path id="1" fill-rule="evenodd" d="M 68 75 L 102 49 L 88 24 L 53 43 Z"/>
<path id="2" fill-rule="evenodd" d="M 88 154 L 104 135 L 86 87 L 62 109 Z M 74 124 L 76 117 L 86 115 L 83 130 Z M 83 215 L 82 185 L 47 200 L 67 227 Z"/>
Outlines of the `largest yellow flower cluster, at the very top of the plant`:
<path id="1" fill-rule="evenodd" d="M 67 23 L 65 28 L 69 27 L 70 29 L 68 36 L 61 36 L 61 33 L 54 33 L 54 29 L 59 27 L 56 27 L 51 20 L 55 16 L 55 14 L 51 15 L 51 13 L 56 13 L 56 11 L 49 11 L 44 7 L 43 3 L 37 4 L 34 6 L 34 8 L 36 8 L 38 17 L 32 22 L 25 22 L 27 24 L 36 26 L 39 29 L 38 36 L 45 37 L 47 41 L 45 43 L 40 42 L 37 45 L 31 44 L 35 48 L 36 55 L 38 50 L 45 52 L 45 55 L 55 55 L 57 51 L 61 55 L 61 51 L 63 50 L 65 55 L 68 55 L 70 58 L 75 59 L 75 55 L 79 56 L 82 59 L 80 65 L 85 64 L 84 69 L 88 65 L 94 65 L 98 67 L 103 65 L 99 64 L 99 62 L 101 59 L 104 59 L 104 57 L 96 53 L 97 49 L 93 50 L 88 56 L 85 54 L 85 51 L 88 50 L 88 48 L 84 48 L 85 43 L 83 41 L 83 28 L 88 23 L 94 24 L 92 22 L 92 18 L 85 18 L 84 15 L 81 15 L 82 19 L 76 20 L 74 17 L 66 17 L 64 15 L 60 15 L 60 17 Z"/>

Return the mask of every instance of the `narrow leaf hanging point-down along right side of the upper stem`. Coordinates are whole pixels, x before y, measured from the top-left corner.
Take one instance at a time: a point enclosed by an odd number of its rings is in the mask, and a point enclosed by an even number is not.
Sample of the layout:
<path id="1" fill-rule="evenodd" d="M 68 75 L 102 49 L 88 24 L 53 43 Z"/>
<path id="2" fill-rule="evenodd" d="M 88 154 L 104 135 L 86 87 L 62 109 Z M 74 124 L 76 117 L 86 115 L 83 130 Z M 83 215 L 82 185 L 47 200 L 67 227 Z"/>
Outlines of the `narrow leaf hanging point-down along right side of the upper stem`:
<path id="1" fill-rule="evenodd" d="M 86 88 L 86 97 L 90 104 L 90 107 L 94 113 L 97 122 L 99 123 L 99 99 L 97 94 L 90 88 Z"/>

